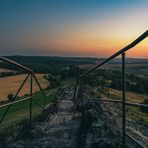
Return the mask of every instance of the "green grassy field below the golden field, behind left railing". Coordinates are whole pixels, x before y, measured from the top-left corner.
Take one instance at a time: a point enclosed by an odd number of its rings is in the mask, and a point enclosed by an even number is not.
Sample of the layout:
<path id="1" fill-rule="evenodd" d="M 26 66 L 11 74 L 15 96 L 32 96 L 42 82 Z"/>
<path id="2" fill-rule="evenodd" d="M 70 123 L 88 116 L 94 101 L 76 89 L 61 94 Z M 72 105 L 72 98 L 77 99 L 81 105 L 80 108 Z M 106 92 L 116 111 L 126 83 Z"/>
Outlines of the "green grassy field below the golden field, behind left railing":
<path id="1" fill-rule="evenodd" d="M 53 101 L 58 88 L 45 90 L 48 96 L 45 97 L 45 104 L 49 104 Z M 33 94 L 32 101 L 32 120 L 36 121 L 40 119 L 43 109 L 40 107 L 44 105 L 44 97 L 41 92 Z M 5 116 L 3 122 L 0 124 L 0 135 L 6 141 L 9 141 L 12 137 L 14 138 L 20 128 L 24 125 L 29 124 L 29 111 L 30 111 L 30 100 L 16 103 L 12 105 Z M 4 114 L 7 107 L 0 109 L 0 117 Z"/>

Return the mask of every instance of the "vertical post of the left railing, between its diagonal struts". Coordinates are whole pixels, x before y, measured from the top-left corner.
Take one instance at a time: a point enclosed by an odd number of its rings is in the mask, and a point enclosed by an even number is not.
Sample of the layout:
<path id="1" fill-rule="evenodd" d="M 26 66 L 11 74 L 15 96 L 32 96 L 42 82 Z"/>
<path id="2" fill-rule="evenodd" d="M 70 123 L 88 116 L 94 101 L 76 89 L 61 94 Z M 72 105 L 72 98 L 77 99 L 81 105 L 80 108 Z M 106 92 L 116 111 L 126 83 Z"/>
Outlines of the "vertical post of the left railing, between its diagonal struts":
<path id="1" fill-rule="evenodd" d="M 32 91 L 33 91 L 33 74 L 31 74 L 30 77 L 30 118 L 29 118 L 29 125 L 31 127 L 31 121 L 32 121 Z"/>

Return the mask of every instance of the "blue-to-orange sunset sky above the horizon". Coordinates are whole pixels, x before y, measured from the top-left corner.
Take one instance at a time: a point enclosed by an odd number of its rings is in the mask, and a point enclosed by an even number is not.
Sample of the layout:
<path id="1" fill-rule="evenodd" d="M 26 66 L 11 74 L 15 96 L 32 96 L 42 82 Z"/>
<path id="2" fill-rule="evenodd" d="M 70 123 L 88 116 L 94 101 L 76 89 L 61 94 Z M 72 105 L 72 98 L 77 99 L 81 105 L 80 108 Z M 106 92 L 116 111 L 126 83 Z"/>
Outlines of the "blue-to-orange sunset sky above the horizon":
<path id="1" fill-rule="evenodd" d="M 147 29 L 148 0 L 0 0 L 0 55 L 108 57 Z"/>

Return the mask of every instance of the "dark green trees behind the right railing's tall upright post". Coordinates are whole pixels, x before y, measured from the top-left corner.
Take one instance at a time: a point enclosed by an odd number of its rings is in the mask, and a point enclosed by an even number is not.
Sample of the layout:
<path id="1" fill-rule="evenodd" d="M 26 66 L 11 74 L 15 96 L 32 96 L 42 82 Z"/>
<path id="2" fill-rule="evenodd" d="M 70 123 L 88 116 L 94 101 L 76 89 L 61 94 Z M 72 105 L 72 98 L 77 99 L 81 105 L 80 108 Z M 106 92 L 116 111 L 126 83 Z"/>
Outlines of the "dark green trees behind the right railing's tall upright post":
<path id="1" fill-rule="evenodd" d="M 122 73 L 121 71 L 99 69 L 84 77 L 83 82 L 93 87 L 107 86 L 122 90 Z M 126 89 L 136 93 L 147 93 L 148 78 L 137 76 L 134 73 L 126 74 Z"/>

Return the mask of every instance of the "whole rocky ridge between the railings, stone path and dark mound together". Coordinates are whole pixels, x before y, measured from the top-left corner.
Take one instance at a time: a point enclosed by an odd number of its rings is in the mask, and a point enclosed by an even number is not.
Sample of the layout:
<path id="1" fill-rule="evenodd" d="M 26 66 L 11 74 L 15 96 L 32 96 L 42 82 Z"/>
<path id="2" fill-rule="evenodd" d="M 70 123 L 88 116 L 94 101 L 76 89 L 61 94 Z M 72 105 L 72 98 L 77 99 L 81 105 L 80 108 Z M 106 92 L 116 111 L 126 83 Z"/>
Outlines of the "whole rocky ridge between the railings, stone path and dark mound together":
<path id="1" fill-rule="evenodd" d="M 85 100 L 74 111 L 73 89 L 67 88 L 47 122 L 33 129 L 10 148 L 121 148 L 119 114 L 108 104 Z"/>

